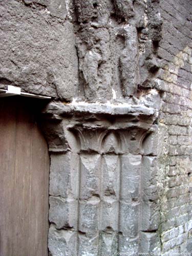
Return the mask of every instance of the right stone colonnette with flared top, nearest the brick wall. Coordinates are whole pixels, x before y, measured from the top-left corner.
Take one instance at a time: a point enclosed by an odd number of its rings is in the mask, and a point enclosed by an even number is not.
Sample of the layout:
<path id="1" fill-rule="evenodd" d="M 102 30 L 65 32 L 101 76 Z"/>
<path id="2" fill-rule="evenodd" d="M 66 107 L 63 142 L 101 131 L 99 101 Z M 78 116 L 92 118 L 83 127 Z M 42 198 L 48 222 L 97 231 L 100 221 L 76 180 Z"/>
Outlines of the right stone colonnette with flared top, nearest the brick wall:
<path id="1" fill-rule="evenodd" d="M 119 252 L 138 251 L 142 134 L 137 130 L 120 134 L 123 155 L 120 157 Z"/>

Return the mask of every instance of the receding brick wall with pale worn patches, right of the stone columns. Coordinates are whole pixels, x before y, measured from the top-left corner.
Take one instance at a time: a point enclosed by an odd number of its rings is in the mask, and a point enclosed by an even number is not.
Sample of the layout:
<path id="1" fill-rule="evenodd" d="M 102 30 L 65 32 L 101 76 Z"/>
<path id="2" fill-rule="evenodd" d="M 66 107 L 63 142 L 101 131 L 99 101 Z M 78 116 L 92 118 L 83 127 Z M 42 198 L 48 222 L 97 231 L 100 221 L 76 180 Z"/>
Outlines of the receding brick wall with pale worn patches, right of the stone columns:
<path id="1" fill-rule="evenodd" d="M 190 1 L 160 1 L 163 20 L 157 79 L 162 106 L 159 134 L 160 242 L 162 255 L 192 251 L 192 7 Z"/>

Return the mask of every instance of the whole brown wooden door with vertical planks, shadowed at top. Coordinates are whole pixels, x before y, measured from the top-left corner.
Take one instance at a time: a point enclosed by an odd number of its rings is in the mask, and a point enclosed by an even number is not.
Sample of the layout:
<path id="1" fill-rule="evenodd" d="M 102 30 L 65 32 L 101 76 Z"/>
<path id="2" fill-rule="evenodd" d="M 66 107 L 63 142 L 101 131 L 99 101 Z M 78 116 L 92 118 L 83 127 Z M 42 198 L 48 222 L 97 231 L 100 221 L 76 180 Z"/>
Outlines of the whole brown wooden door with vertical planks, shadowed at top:
<path id="1" fill-rule="evenodd" d="M 0 255 L 46 256 L 49 155 L 22 97 L 0 99 Z"/>

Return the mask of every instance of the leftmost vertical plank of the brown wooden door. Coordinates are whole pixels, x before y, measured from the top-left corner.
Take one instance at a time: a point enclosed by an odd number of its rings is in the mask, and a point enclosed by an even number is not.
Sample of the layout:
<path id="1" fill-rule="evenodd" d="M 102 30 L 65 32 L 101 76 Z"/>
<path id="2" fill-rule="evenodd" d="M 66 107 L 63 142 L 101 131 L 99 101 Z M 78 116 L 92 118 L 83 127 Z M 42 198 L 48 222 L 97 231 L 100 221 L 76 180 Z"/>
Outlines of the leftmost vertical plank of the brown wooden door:
<path id="1" fill-rule="evenodd" d="M 15 170 L 16 111 L 0 102 L 0 255 L 13 253 L 13 188 Z"/>

